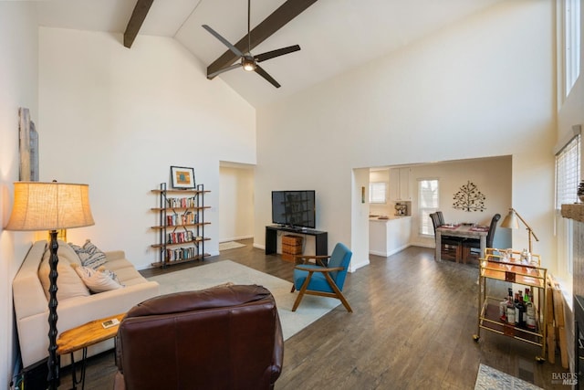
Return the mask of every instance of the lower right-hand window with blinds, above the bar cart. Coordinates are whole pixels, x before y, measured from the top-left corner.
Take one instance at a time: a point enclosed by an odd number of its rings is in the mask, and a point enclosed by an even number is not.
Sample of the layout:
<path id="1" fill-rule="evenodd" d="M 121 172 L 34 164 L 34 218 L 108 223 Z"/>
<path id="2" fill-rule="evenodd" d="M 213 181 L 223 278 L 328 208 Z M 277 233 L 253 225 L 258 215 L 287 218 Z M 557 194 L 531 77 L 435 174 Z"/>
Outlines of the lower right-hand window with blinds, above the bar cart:
<path id="1" fill-rule="evenodd" d="M 560 214 L 561 205 L 578 199 L 580 177 L 580 135 L 576 135 L 556 154 L 556 220 L 558 235 L 558 277 L 571 279 L 572 223 Z"/>

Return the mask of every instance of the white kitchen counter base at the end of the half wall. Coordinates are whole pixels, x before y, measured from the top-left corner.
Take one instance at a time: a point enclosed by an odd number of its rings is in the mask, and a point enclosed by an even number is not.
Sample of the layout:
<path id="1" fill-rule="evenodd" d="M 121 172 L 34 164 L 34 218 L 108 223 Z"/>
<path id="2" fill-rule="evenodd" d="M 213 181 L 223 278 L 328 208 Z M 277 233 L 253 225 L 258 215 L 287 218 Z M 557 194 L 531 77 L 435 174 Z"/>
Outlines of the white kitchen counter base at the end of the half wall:
<path id="1" fill-rule="evenodd" d="M 412 216 L 370 217 L 369 253 L 387 258 L 410 246 Z"/>

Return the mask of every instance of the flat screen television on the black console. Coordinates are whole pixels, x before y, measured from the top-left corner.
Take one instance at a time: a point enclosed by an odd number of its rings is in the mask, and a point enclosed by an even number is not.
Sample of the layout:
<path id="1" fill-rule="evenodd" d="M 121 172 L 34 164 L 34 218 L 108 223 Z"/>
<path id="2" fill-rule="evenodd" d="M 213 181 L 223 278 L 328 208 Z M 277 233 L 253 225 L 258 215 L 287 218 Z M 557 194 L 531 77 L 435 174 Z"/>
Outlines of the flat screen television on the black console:
<path id="1" fill-rule="evenodd" d="M 315 191 L 272 191 L 272 223 L 317 227 Z"/>

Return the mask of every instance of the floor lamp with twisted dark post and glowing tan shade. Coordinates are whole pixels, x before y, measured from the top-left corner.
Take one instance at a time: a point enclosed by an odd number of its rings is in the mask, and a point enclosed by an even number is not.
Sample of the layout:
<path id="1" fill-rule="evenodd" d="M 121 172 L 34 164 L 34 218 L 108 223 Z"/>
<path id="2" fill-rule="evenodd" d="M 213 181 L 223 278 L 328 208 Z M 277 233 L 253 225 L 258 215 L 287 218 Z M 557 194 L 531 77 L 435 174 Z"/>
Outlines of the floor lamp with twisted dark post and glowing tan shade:
<path id="1" fill-rule="evenodd" d="M 6 230 L 49 230 L 51 251 L 48 300 L 49 389 L 57 389 L 57 230 L 94 225 L 89 208 L 89 185 L 16 182 L 15 203 Z"/>

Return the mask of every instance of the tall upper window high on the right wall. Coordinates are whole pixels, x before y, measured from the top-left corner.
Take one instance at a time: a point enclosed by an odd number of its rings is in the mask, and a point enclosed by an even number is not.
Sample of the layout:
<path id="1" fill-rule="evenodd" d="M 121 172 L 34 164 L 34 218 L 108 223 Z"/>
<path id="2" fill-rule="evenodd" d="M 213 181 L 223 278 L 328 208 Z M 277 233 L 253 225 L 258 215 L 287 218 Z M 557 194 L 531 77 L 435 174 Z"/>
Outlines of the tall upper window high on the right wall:
<path id="1" fill-rule="evenodd" d="M 566 0 L 563 11 L 564 79 L 568 96 L 580 74 L 580 0 Z"/>

